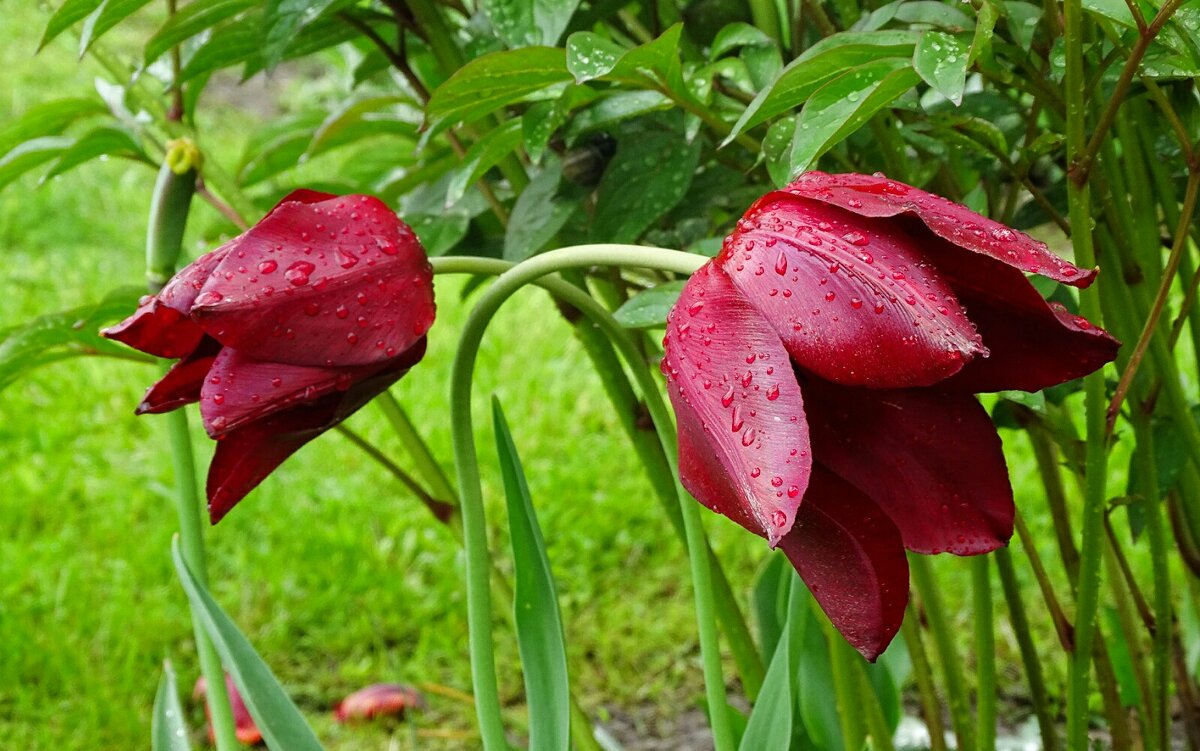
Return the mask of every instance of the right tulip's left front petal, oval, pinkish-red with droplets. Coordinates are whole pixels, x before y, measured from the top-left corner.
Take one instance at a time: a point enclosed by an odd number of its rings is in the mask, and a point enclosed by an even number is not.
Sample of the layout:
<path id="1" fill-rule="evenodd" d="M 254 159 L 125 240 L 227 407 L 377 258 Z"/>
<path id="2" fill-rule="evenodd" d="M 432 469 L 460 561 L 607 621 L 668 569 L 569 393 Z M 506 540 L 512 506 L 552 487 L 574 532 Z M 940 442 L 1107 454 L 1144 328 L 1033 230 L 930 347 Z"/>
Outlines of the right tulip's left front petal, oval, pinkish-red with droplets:
<path id="1" fill-rule="evenodd" d="M 708 263 L 671 311 L 664 347 L 684 487 L 778 545 L 812 463 L 804 399 L 779 336 Z"/>

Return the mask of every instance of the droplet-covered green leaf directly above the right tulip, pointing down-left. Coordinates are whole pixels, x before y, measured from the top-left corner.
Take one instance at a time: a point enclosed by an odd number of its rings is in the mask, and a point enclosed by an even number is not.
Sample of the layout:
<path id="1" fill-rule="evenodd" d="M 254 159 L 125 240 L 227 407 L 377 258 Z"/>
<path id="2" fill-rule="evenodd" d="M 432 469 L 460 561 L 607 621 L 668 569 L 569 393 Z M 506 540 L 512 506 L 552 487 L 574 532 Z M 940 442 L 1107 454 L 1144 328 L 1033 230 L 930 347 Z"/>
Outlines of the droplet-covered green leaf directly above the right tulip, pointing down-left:
<path id="1" fill-rule="evenodd" d="M 859 127 L 919 80 L 907 60 L 884 59 L 860 65 L 822 86 L 796 121 L 791 178 Z"/>

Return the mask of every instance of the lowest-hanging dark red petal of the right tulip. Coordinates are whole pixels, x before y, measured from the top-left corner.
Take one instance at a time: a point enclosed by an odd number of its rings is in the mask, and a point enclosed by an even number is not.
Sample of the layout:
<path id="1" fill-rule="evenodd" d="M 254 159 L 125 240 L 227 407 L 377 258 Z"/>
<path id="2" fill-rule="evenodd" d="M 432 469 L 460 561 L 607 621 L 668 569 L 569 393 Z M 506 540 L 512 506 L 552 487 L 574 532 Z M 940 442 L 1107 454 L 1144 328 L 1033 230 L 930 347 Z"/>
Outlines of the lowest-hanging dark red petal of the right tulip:
<path id="1" fill-rule="evenodd" d="M 874 662 L 900 630 L 908 602 L 908 560 L 892 519 L 850 483 L 814 467 L 780 547 L 838 631 Z"/>

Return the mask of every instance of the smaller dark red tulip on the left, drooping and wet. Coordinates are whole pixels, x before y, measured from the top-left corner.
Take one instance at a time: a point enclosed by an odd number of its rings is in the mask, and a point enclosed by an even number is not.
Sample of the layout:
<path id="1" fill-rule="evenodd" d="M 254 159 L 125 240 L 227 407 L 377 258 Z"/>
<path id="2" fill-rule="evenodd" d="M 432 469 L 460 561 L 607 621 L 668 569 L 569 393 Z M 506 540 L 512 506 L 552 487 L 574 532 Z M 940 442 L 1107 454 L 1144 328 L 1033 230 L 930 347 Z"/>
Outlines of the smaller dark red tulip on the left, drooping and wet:
<path id="1" fill-rule="evenodd" d="M 192 402 L 217 439 L 221 519 L 286 458 L 425 354 L 432 270 L 380 200 L 296 191 L 103 335 L 179 361 L 138 414 Z"/>

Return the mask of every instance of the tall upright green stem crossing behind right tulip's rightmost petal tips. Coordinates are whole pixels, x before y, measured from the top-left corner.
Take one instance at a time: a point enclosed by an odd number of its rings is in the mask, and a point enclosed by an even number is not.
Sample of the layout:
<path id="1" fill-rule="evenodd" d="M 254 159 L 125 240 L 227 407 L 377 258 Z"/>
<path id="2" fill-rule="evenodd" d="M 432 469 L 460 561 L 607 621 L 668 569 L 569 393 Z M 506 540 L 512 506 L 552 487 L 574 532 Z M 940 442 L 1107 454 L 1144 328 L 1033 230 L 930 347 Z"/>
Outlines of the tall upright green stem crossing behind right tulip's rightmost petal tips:
<path id="1" fill-rule="evenodd" d="M 1063 0 L 1063 37 L 1066 77 L 1063 96 L 1067 103 L 1067 205 L 1075 262 L 1088 269 L 1096 265 L 1091 233 L 1091 190 L 1086 161 L 1090 161 L 1084 128 L 1087 107 L 1084 101 L 1084 7 L 1082 0 Z M 1102 282 L 1103 283 L 1103 282 Z M 1094 325 L 1102 324 L 1098 293 L 1080 293 L 1080 311 Z M 1073 751 L 1087 749 L 1087 693 L 1096 636 L 1096 612 L 1100 591 L 1100 533 L 1108 482 L 1106 429 L 1104 423 L 1104 373 L 1097 371 L 1084 379 L 1084 403 L 1087 410 L 1085 444 L 1086 487 L 1081 523 L 1082 549 L 1079 559 L 1079 599 L 1075 615 L 1075 644 L 1070 659 L 1067 689 L 1067 739 Z"/>

